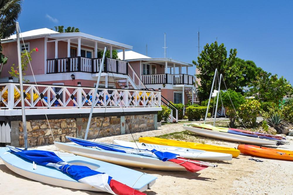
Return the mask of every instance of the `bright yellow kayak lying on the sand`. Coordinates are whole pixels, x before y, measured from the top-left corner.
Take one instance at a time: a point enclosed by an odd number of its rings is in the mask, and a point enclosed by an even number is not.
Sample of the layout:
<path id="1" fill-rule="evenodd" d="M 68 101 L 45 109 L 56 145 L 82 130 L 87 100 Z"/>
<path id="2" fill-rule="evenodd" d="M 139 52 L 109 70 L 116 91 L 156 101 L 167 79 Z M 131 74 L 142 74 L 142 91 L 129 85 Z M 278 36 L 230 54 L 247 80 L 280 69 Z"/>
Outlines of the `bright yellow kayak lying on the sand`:
<path id="1" fill-rule="evenodd" d="M 210 152 L 221 152 L 232 154 L 233 158 L 236 158 L 240 150 L 235 148 L 228 148 L 223 146 L 213 146 L 208 144 L 200 144 L 195 142 L 187 142 L 187 141 L 176 141 L 172 139 L 161 139 L 156 137 L 140 137 L 139 142 L 146 143 L 146 144 L 159 144 L 165 146 L 176 146 L 176 147 L 183 147 L 183 148 L 191 148 L 197 150 L 205 150 Z"/>

